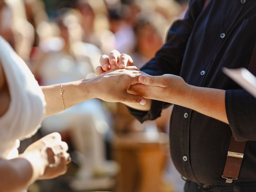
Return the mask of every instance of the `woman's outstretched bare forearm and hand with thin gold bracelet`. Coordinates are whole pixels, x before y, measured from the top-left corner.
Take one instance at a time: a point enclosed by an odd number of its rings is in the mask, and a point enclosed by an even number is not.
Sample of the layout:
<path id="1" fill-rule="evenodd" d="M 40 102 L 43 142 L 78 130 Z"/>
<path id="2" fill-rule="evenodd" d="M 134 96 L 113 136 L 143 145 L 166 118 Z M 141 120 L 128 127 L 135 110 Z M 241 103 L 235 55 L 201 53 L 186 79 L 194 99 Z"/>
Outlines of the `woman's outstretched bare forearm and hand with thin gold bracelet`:
<path id="1" fill-rule="evenodd" d="M 142 96 L 128 94 L 132 84 L 138 83 L 143 73 L 132 69 L 110 70 L 99 77 L 62 84 L 64 108 L 70 108 L 82 101 L 99 98 L 108 102 L 127 102 L 144 106 L 146 100 Z M 116 82 L 119 82 L 118 84 Z M 46 115 L 49 116 L 63 110 L 60 96 L 60 84 L 42 87 L 46 100 Z"/>

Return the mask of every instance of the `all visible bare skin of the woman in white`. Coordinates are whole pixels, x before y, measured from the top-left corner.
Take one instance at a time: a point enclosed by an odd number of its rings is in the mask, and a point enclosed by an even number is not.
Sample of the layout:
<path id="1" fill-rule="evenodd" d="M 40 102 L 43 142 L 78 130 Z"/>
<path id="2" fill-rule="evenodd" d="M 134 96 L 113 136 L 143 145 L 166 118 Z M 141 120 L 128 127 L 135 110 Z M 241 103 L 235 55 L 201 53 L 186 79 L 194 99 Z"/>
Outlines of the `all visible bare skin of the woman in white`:
<path id="1" fill-rule="evenodd" d="M 110 70 L 101 76 L 90 80 L 79 80 L 62 84 L 65 109 L 84 100 L 100 98 L 109 102 L 126 102 L 145 105 L 142 96 L 129 94 L 130 86 L 138 84 L 138 78 L 144 74 L 134 67 L 120 70 Z M 116 83 L 118 82 L 118 83 Z M 50 116 L 63 110 L 60 96 L 60 84 L 42 86 L 46 100 L 46 114 Z M 0 63 L 0 116 L 9 107 L 10 94 Z M 54 137 L 54 138 L 53 138 Z M 47 150 L 44 143 L 50 144 Z M 19 158 L 4 160 L 0 158 L 0 191 L 12 192 L 27 188 L 35 180 L 50 179 L 66 172 L 68 154 L 66 143 L 61 141 L 60 135 L 48 135 L 30 145 Z M 43 152 L 42 152 L 43 151 Z M 49 166 L 54 164 L 54 166 Z M 15 180 L 15 182 L 13 182 Z"/>

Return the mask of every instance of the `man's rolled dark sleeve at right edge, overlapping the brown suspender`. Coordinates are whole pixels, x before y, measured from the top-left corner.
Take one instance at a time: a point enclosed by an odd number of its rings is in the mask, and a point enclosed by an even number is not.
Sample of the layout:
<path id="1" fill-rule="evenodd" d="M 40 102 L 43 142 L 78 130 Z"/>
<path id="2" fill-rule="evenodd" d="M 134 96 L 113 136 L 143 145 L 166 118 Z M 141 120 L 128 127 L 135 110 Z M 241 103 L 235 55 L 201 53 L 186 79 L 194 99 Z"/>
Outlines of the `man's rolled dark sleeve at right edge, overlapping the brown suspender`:
<path id="1" fill-rule="evenodd" d="M 256 99 L 245 90 L 226 90 L 226 114 L 237 141 L 256 141 Z"/>

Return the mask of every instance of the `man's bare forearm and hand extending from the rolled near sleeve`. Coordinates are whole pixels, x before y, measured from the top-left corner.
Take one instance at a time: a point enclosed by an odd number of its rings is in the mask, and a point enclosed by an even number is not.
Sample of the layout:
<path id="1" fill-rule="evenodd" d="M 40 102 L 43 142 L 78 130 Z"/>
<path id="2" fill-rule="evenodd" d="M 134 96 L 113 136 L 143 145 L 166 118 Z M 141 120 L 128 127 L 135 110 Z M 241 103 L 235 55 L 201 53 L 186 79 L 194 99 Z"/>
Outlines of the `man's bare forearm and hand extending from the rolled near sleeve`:
<path id="1" fill-rule="evenodd" d="M 184 106 L 228 124 L 225 90 L 191 86 L 181 77 L 170 74 L 141 76 L 139 81 L 142 84 L 132 86 L 130 92 Z"/>

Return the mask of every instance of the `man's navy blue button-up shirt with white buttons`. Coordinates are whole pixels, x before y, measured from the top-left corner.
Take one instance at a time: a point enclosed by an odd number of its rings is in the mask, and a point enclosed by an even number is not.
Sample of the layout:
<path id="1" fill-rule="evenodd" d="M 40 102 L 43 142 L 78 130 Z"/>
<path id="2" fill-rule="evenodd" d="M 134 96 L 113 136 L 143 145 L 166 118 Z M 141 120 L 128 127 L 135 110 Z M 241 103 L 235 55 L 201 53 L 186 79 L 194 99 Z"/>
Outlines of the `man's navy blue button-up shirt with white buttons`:
<path id="1" fill-rule="evenodd" d="M 222 185 L 232 133 L 248 141 L 238 181 L 256 182 L 256 100 L 222 68 L 248 68 L 256 44 L 256 0 L 191 0 L 167 42 L 141 70 L 179 75 L 191 85 L 226 90 L 228 124 L 189 108 L 174 106 L 170 152 L 182 176 Z M 255 67 L 255 66 L 254 66 Z M 154 120 L 169 104 L 153 101 L 149 112 L 129 109 L 140 122 Z"/>

